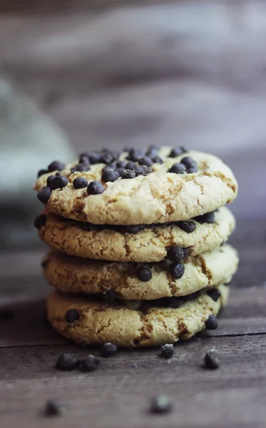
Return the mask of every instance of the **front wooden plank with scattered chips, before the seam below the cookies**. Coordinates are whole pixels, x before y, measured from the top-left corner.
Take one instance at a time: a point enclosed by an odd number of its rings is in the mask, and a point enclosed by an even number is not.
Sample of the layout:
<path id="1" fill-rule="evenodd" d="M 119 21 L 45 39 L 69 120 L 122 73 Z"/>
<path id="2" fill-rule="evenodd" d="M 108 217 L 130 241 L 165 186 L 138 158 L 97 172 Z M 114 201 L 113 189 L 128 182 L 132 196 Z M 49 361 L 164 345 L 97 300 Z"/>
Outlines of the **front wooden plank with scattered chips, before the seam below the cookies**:
<path id="1" fill-rule="evenodd" d="M 220 369 L 206 371 L 202 356 L 210 347 L 220 355 Z M 54 427 L 151 428 L 265 427 L 266 337 L 191 340 L 175 347 L 170 362 L 158 350 L 120 352 L 102 360 L 97 372 L 57 372 L 63 350 L 77 347 L 0 350 L 0 411 L 3 427 L 47 427 L 46 399 L 69 407 Z M 151 415 L 150 398 L 168 394 L 172 414 Z"/>

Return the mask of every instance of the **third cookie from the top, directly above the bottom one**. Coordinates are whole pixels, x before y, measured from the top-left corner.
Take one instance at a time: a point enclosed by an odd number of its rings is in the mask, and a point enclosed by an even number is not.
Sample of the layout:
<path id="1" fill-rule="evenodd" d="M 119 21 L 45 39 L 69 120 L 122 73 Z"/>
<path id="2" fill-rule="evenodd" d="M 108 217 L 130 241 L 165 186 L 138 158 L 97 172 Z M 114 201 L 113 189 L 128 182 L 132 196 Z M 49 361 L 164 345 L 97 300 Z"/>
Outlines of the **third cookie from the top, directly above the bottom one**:
<path id="1" fill-rule="evenodd" d="M 151 278 L 143 281 L 139 278 L 141 263 L 103 262 L 52 252 L 44 260 L 44 276 L 63 292 L 93 294 L 112 290 L 121 299 L 150 300 L 190 295 L 204 287 L 229 282 L 237 265 L 235 249 L 223 245 L 211 252 L 188 257 L 183 265 L 184 274 L 179 279 L 173 277 L 169 260 L 155 265 L 147 263 L 145 267 Z"/>

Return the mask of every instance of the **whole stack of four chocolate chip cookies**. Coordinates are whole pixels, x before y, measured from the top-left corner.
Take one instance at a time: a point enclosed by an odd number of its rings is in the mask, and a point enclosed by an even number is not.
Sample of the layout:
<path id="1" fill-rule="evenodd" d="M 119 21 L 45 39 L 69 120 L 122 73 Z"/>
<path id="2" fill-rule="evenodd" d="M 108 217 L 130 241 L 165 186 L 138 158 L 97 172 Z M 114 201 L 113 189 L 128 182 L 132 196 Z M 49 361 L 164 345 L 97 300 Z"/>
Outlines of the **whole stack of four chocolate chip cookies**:
<path id="1" fill-rule="evenodd" d="M 83 153 L 36 182 L 48 320 L 83 345 L 163 345 L 214 329 L 237 270 L 237 195 L 219 158 L 184 148 Z"/>

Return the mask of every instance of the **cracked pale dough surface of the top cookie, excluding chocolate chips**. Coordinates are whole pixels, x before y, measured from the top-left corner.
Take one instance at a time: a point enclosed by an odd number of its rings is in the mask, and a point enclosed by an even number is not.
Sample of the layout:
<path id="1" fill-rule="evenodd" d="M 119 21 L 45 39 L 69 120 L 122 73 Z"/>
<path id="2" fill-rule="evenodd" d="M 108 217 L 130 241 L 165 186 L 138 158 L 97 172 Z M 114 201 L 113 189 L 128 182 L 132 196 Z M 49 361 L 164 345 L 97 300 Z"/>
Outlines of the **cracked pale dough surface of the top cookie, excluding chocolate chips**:
<path id="1" fill-rule="evenodd" d="M 86 188 L 75 188 L 73 180 L 85 178 L 88 183 L 101 181 L 104 163 L 90 165 L 89 170 L 73 171 L 76 163 L 61 170 L 60 183 L 54 190 L 46 188 L 43 202 L 49 211 L 74 220 L 95 224 L 135 225 L 188 220 L 232 202 L 237 195 L 237 182 L 230 168 L 219 158 L 207 153 L 189 151 L 170 157 L 171 148 L 160 148 L 158 156 L 163 163 L 153 163 L 148 175 L 118 178 L 102 182 L 101 194 L 90 194 Z M 119 160 L 124 161 L 123 152 Z M 170 173 L 168 170 L 184 157 L 193 158 L 197 172 Z M 56 170 L 53 171 L 56 174 Z M 44 173 L 36 182 L 36 190 L 46 186 L 51 173 Z M 65 178 L 68 180 L 65 180 Z M 59 188 L 58 188 L 59 186 Z M 94 189 L 95 190 L 95 189 Z M 93 190 L 93 191 L 94 191 Z"/>

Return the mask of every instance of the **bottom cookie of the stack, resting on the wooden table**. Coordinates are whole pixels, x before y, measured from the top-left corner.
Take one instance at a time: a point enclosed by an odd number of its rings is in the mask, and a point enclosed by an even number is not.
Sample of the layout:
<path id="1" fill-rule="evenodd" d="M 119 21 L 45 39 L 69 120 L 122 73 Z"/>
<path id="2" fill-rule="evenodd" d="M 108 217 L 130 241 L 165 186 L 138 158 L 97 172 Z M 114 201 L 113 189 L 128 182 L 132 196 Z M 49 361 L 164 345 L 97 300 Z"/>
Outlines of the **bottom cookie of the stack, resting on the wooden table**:
<path id="1" fill-rule="evenodd" d="M 219 285 L 217 300 L 203 290 L 195 300 L 176 308 L 153 304 L 132 310 L 121 302 L 109 305 L 53 291 L 48 296 L 48 320 L 60 335 L 81 345 L 158 346 L 187 340 L 204 330 L 209 316 L 225 305 L 228 292 L 229 287 Z"/>

